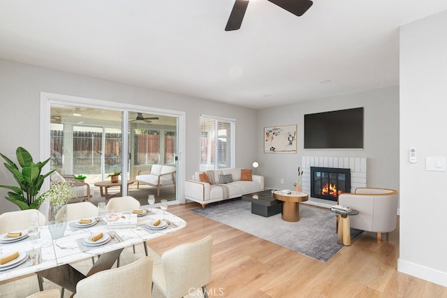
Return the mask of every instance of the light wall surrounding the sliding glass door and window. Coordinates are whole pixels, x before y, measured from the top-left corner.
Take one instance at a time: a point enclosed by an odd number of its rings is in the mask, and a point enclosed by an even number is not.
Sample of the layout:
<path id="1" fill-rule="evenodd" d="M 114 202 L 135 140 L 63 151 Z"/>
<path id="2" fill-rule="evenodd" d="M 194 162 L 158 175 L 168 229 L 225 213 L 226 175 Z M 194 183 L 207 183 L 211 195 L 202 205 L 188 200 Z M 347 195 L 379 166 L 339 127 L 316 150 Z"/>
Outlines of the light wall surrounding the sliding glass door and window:
<path id="1" fill-rule="evenodd" d="M 185 177 L 198 170 L 200 114 L 236 119 L 237 167 L 251 167 L 256 156 L 256 110 L 1 59 L 0 86 L 0 152 L 10 158 L 22 146 L 39 160 L 41 91 L 186 112 Z M 0 159 L 0 185 L 16 185 Z M 0 213 L 18 209 L 6 193 L 0 188 Z"/>

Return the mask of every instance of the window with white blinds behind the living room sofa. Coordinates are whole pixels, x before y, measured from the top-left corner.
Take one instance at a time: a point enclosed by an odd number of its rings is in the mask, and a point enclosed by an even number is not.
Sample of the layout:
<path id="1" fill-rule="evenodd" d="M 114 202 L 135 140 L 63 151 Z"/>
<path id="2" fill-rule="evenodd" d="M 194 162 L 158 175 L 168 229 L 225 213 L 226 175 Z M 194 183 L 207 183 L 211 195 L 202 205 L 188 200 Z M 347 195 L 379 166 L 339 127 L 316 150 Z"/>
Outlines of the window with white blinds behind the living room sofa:
<path id="1" fill-rule="evenodd" d="M 235 119 L 200 117 L 200 171 L 235 167 Z"/>

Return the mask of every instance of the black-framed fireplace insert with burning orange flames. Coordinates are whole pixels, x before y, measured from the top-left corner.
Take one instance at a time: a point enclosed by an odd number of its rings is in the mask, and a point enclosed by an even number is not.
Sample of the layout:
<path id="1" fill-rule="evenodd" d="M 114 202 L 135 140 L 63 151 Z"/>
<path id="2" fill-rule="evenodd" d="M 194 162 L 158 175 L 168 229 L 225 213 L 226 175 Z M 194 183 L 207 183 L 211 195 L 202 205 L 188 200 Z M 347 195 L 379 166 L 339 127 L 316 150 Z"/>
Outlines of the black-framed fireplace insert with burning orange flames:
<path id="1" fill-rule="evenodd" d="M 340 193 L 351 192 L 351 170 L 338 167 L 310 167 L 312 198 L 337 202 Z"/>

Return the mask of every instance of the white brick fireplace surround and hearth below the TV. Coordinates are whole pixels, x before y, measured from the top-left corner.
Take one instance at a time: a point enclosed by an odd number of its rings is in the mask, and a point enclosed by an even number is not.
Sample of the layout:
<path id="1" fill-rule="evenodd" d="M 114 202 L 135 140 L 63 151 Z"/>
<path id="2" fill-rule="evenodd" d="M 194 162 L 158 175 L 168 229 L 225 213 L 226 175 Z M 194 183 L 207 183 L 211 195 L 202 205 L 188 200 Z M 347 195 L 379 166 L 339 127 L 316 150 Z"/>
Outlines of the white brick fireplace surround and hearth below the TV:
<path id="1" fill-rule="evenodd" d="M 365 157 L 302 156 L 302 191 L 305 193 L 310 193 L 310 167 L 351 169 L 351 192 L 358 187 L 366 187 L 367 169 Z M 310 197 L 307 202 L 302 202 L 302 204 L 331 207 L 336 202 Z"/>

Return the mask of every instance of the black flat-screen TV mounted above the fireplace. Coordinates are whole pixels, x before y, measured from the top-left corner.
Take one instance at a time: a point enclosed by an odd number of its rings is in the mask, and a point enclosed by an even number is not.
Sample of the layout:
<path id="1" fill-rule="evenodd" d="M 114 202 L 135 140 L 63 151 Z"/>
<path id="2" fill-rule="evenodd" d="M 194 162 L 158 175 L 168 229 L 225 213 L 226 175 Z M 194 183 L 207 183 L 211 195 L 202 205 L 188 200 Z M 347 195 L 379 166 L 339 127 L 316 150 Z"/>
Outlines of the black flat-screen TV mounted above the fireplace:
<path id="1" fill-rule="evenodd" d="M 305 114 L 305 149 L 363 149 L 363 107 Z"/>

